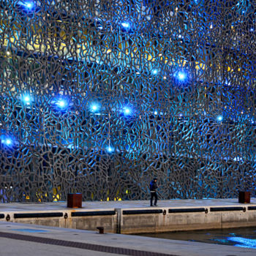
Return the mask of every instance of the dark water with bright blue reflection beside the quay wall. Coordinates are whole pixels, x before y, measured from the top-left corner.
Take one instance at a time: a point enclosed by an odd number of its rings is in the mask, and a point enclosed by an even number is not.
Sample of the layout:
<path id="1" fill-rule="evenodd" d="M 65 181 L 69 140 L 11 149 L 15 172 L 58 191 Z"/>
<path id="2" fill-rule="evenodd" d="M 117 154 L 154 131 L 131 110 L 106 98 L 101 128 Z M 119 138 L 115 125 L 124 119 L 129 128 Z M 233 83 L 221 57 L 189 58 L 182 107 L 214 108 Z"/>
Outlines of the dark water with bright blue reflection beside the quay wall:
<path id="1" fill-rule="evenodd" d="M 223 230 L 181 231 L 159 234 L 143 234 L 141 236 L 197 241 L 210 244 L 225 244 L 256 249 L 256 227 L 242 227 Z"/>

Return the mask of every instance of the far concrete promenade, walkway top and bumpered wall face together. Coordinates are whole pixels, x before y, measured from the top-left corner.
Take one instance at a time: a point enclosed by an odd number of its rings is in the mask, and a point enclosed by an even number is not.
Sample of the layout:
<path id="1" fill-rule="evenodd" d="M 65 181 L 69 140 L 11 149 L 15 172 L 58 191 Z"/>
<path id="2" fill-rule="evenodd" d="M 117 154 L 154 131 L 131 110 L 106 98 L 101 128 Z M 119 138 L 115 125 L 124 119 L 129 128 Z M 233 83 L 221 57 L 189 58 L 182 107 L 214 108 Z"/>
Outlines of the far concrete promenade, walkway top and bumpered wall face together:
<path id="1" fill-rule="evenodd" d="M 256 198 L 83 202 L 82 208 L 58 203 L 0 203 L 0 222 L 22 222 L 81 230 L 104 227 L 106 233 L 161 233 L 256 226 Z"/>

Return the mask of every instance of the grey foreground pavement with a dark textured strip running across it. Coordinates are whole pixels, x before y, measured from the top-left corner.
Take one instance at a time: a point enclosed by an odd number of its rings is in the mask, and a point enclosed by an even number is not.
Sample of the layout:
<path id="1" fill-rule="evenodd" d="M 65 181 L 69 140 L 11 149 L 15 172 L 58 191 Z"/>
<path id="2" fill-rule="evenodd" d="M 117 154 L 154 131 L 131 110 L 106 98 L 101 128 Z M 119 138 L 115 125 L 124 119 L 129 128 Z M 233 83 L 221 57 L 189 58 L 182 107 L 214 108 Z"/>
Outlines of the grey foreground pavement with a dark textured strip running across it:
<path id="1" fill-rule="evenodd" d="M 0 222 L 0 256 L 255 256 L 256 249 Z"/>

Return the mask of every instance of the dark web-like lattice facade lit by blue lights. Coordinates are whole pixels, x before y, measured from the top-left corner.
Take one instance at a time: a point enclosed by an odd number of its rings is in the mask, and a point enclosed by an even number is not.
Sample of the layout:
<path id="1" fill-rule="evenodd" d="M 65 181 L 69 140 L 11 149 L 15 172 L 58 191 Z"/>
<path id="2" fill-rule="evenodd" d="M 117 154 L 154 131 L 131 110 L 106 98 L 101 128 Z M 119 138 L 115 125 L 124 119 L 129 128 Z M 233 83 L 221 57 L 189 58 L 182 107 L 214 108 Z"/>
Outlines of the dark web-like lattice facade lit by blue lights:
<path id="1" fill-rule="evenodd" d="M 0 200 L 254 194 L 255 1 L 0 0 Z"/>

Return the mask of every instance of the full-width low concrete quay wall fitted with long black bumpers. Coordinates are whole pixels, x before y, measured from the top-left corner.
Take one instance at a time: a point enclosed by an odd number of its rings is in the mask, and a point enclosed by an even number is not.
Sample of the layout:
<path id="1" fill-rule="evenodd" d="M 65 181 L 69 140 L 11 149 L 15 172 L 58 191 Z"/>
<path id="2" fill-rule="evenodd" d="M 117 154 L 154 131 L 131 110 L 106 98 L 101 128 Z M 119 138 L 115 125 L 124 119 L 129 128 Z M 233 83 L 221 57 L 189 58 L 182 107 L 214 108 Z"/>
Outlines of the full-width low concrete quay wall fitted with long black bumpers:
<path id="1" fill-rule="evenodd" d="M 203 208 L 111 208 L 104 211 L 5 212 L 0 220 L 35 225 L 97 230 L 106 233 L 162 233 L 256 226 L 256 206 Z"/>

